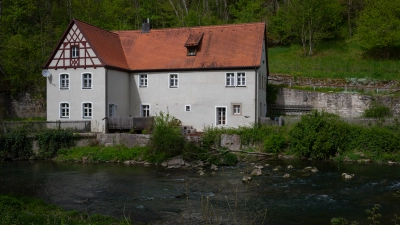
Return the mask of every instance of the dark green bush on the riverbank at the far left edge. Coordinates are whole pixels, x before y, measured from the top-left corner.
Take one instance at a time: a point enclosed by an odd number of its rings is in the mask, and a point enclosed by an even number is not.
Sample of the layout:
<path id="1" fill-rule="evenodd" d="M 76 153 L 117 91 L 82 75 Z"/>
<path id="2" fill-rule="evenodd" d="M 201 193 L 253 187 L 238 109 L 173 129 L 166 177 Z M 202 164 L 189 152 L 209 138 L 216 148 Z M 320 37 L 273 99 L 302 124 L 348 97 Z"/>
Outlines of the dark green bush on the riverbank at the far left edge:
<path id="1" fill-rule="evenodd" d="M 32 155 L 31 149 L 32 140 L 22 129 L 0 136 L 0 159 L 27 159 Z"/>

